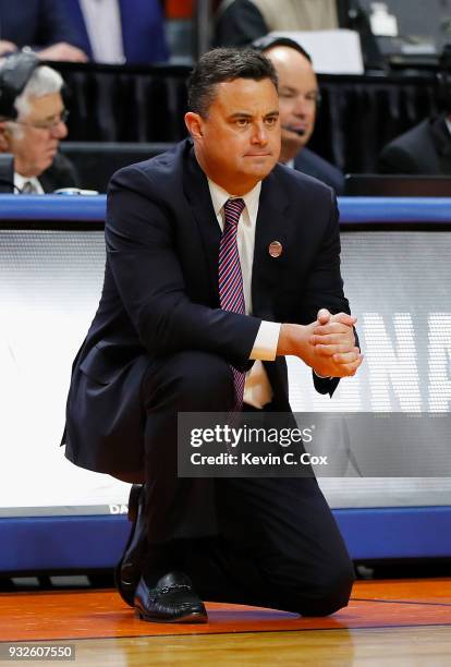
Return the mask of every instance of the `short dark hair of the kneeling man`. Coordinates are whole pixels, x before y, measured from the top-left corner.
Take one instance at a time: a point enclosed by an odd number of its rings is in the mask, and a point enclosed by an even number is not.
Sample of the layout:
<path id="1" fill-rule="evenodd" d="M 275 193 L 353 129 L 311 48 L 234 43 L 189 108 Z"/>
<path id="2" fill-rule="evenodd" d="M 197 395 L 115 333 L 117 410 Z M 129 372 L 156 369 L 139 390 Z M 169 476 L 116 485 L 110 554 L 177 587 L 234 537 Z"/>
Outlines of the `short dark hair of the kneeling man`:
<path id="1" fill-rule="evenodd" d="M 215 99 L 216 86 L 235 78 L 269 78 L 276 89 L 278 77 L 271 61 L 254 49 L 219 48 L 200 57 L 188 82 L 188 109 L 206 117 Z"/>

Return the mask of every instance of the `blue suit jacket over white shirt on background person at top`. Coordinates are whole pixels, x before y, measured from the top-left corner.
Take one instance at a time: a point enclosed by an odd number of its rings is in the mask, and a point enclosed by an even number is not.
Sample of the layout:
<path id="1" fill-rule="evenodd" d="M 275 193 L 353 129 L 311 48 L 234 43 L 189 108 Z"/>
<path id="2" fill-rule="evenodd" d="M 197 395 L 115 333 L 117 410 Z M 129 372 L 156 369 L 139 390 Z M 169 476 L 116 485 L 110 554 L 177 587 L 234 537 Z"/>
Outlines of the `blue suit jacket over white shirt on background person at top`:
<path id="1" fill-rule="evenodd" d="M 76 33 L 77 45 L 92 59 L 93 50 L 78 0 L 64 0 L 64 7 Z M 168 60 L 159 0 L 119 0 L 119 7 L 126 62 L 133 64 Z"/>

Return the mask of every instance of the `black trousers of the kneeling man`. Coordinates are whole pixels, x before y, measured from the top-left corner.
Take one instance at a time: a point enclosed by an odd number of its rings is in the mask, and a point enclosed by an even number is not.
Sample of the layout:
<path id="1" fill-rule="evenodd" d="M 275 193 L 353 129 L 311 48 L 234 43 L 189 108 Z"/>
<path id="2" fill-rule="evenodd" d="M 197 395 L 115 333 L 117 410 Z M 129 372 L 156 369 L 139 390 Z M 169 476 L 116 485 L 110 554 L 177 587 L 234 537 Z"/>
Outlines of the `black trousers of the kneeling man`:
<path id="1" fill-rule="evenodd" d="M 345 606 L 353 567 L 315 478 L 176 476 L 176 414 L 231 408 L 227 362 L 173 354 L 149 366 L 142 395 L 149 560 L 164 553 L 204 599 L 306 616 Z"/>

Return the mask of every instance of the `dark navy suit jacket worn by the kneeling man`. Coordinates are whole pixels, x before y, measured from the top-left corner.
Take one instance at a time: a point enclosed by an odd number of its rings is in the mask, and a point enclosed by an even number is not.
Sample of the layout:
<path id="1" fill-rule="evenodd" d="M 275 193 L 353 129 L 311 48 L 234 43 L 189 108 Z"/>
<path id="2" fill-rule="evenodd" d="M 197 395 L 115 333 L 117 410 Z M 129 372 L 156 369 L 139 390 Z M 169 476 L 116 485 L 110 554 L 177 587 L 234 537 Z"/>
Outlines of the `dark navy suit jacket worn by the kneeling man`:
<path id="1" fill-rule="evenodd" d="M 221 233 L 191 140 L 113 175 L 105 233 L 103 290 L 73 365 L 63 438 L 66 457 L 83 468 L 142 472 L 139 391 L 153 359 L 200 350 L 244 371 L 261 319 L 309 324 L 322 306 L 349 313 L 333 192 L 281 165 L 261 183 L 253 316 L 219 307 Z M 275 240 L 279 257 L 268 252 Z M 289 411 L 284 357 L 265 367 L 275 409 Z M 339 380 L 314 381 L 331 395 Z"/>

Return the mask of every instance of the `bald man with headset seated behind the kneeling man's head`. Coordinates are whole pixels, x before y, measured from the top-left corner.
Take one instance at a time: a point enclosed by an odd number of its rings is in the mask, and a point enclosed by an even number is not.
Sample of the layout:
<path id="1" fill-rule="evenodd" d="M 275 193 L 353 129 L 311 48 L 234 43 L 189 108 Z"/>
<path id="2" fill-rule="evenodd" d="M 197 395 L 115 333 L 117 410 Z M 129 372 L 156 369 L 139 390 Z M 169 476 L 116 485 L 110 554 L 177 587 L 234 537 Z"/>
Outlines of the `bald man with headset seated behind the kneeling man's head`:
<path id="1" fill-rule="evenodd" d="M 279 76 L 279 112 L 282 125 L 280 161 L 313 175 L 342 194 L 342 172 L 306 148 L 315 130 L 320 101 L 318 81 L 309 54 L 293 39 L 270 35 L 254 41 L 272 62 Z"/>

